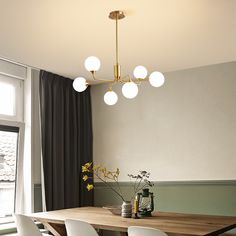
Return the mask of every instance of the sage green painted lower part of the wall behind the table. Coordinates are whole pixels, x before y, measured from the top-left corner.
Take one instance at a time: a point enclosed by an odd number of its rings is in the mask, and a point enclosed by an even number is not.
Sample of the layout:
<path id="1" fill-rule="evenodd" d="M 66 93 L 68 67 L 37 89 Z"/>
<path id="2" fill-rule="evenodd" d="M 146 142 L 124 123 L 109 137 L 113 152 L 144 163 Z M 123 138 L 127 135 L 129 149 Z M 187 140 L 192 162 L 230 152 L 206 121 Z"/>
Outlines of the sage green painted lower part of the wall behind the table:
<path id="1" fill-rule="evenodd" d="M 127 197 L 132 194 L 128 182 L 121 183 L 121 190 Z M 155 183 L 153 192 L 156 211 L 236 216 L 236 181 L 160 182 Z M 121 204 L 121 200 L 97 183 L 95 205 L 112 204 Z"/>

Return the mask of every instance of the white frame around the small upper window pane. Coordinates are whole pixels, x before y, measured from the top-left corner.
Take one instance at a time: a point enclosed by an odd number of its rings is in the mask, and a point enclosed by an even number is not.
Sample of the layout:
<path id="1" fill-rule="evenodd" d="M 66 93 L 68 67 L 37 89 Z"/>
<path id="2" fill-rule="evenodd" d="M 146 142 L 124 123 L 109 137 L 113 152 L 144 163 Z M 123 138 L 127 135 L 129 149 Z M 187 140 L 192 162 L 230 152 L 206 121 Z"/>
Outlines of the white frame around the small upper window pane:
<path id="1" fill-rule="evenodd" d="M 3 120 L 11 120 L 11 121 L 18 121 L 18 122 L 23 122 L 23 111 L 24 111 L 24 106 L 23 106 L 23 96 L 24 96 L 24 81 L 21 79 L 16 79 L 11 76 L 7 76 L 4 74 L 0 73 L 0 82 L 7 83 L 12 85 L 15 88 L 15 115 L 14 116 L 9 116 L 9 115 L 4 115 L 0 114 L 0 119 Z"/>

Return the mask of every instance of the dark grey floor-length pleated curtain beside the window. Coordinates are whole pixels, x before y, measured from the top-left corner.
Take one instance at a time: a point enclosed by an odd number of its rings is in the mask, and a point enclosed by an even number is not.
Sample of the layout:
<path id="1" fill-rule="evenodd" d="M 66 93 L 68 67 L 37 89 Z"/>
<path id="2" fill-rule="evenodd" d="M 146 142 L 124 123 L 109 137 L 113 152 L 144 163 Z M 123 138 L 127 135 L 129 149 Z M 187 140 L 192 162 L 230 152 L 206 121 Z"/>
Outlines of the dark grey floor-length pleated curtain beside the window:
<path id="1" fill-rule="evenodd" d="M 93 205 L 81 165 L 92 161 L 90 88 L 77 93 L 72 80 L 40 71 L 42 156 L 47 210 Z"/>

